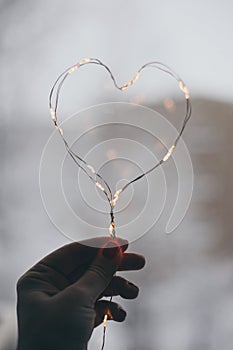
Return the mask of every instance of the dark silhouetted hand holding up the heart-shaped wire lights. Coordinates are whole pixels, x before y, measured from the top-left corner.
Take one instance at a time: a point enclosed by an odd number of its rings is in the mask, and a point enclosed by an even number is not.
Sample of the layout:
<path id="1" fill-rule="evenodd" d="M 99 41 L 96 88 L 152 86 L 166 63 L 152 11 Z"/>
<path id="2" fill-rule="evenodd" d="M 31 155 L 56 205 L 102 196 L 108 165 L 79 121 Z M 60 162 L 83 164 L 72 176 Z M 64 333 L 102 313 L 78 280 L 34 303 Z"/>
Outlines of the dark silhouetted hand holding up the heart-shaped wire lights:
<path id="1" fill-rule="evenodd" d="M 106 313 L 124 321 L 126 312 L 118 304 L 100 299 L 137 297 L 137 286 L 114 276 L 145 264 L 143 256 L 125 253 L 127 248 L 120 238 L 72 243 L 26 272 L 17 284 L 18 350 L 84 350 Z"/>

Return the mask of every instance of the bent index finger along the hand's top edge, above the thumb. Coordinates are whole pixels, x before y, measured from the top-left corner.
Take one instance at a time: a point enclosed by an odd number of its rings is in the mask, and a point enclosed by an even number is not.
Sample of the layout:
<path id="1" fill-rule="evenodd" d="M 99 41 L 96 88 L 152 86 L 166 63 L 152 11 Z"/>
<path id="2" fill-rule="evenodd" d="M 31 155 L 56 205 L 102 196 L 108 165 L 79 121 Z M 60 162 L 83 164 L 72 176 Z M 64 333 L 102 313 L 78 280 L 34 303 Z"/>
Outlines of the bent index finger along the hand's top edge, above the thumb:
<path id="1" fill-rule="evenodd" d="M 99 237 L 82 241 L 88 245 L 79 242 L 59 248 L 39 261 L 19 279 L 17 283 L 18 293 L 37 290 L 53 296 L 71 283 L 76 282 L 97 257 L 100 250 L 97 247 L 106 243 L 111 246 L 111 241 L 110 237 Z M 121 238 L 116 238 L 114 242 L 122 247 L 122 251 L 128 247 L 128 242 Z"/>

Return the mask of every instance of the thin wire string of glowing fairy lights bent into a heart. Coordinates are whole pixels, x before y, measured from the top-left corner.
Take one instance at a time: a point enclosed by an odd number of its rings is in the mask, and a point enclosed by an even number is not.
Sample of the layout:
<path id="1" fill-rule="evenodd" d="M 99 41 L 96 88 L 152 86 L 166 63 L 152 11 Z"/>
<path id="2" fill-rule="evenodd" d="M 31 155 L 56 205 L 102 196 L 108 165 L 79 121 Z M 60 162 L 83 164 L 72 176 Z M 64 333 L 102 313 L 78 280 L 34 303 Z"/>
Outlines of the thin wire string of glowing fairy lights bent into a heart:
<path id="1" fill-rule="evenodd" d="M 183 119 L 182 126 L 180 128 L 178 136 L 174 140 L 172 146 L 168 149 L 165 156 L 161 160 L 159 160 L 156 164 L 154 164 L 150 169 L 148 169 L 145 172 L 142 172 L 137 177 L 128 181 L 126 183 L 126 185 L 124 185 L 122 188 L 118 189 L 114 194 L 113 194 L 108 182 L 102 177 L 102 175 L 99 174 L 98 172 L 96 172 L 94 167 L 92 165 L 88 164 L 81 156 L 79 156 L 73 150 L 71 150 L 68 142 L 66 141 L 66 139 L 64 137 L 63 130 L 57 124 L 57 122 L 58 122 L 57 108 L 58 108 L 58 102 L 59 102 L 61 88 L 62 88 L 65 80 L 67 79 L 67 77 L 70 76 L 70 74 L 77 71 L 80 67 L 82 67 L 83 65 L 86 65 L 86 64 L 95 64 L 95 65 L 99 65 L 99 66 L 102 66 L 103 68 L 105 68 L 107 70 L 107 72 L 109 73 L 110 78 L 112 79 L 115 88 L 117 88 L 118 90 L 121 90 L 121 91 L 124 91 L 125 89 L 128 89 L 131 85 L 133 85 L 137 81 L 137 79 L 139 78 L 142 70 L 144 70 L 148 67 L 156 68 L 158 70 L 163 71 L 166 74 L 169 74 L 172 78 L 174 78 L 178 82 L 178 86 L 179 86 L 180 90 L 183 92 L 184 97 L 186 99 L 186 111 L 185 111 L 185 117 Z M 54 101 L 54 103 L 53 103 L 53 101 Z M 116 82 L 114 75 L 112 74 L 110 68 L 107 65 L 105 65 L 103 62 L 101 62 L 97 58 L 84 58 L 84 59 L 80 60 L 78 63 L 76 63 L 75 65 L 66 69 L 57 78 L 57 80 L 55 81 L 55 83 L 50 91 L 50 94 L 49 94 L 49 110 L 50 110 L 50 114 L 51 114 L 51 118 L 52 118 L 52 121 L 54 123 L 54 126 L 57 129 L 57 131 L 59 132 L 70 157 L 76 163 L 76 165 L 89 177 L 89 179 L 94 183 L 94 185 L 100 191 L 102 191 L 104 193 L 104 195 L 109 203 L 109 208 L 110 208 L 110 210 L 109 210 L 109 214 L 110 214 L 109 234 L 111 237 L 115 238 L 116 237 L 116 225 L 115 225 L 115 217 L 114 217 L 114 208 L 115 208 L 116 202 L 118 201 L 121 193 L 123 193 L 132 183 L 139 181 L 144 176 L 146 176 L 149 173 L 151 173 L 152 171 L 154 171 L 156 168 L 161 166 L 163 163 L 165 163 L 172 156 L 172 154 L 173 154 L 173 152 L 174 152 L 174 150 L 175 150 L 175 148 L 176 148 L 176 146 L 177 146 L 177 144 L 178 144 L 178 142 L 179 142 L 179 140 L 184 132 L 184 129 L 187 125 L 187 122 L 191 118 L 192 108 L 191 108 L 191 102 L 190 102 L 190 92 L 189 92 L 188 87 L 185 85 L 184 81 L 182 79 L 180 79 L 179 76 L 171 70 L 170 67 L 168 67 L 167 65 L 165 65 L 161 62 L 157 62 L 157 61 L 152 61 L 152 62 L 144 64 L 136 72 L 134 77 L 128 83 L 125 83 L 124 85 L 119 86 Z M 98 178 L 98 181 L 97 181 L 97 178 Z M 110 298 L 110 302 L 111 301 L 112 301 L 112 297 Z M 111 317 L 111 315 L 109 316 L 108 313 L 109 313 L 109 311 L 105 314 L 104 319 L 103 319 L 104 333 L 103 333 L 103 343 L 102 343 L 101 350 L 103 350 L 104 344 L 105 344 L 107 320 L 108 320 L 108 317 Z"/>

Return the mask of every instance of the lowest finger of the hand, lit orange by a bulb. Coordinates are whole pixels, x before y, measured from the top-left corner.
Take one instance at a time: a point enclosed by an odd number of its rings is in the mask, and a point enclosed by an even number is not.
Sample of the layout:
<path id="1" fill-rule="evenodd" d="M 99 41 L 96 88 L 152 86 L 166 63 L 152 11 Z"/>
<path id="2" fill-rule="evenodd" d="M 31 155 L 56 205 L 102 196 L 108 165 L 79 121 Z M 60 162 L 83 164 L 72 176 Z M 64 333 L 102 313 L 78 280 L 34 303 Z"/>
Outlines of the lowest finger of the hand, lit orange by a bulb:
<path id="1" fill-rule="evenodd" d="M 123 322 L 126 318 L 126 311 L 117 303 L 107 300 L 97 301 L 95 304 L 95 327 L 99 326 L 108 315 L 108 320 Z"/>

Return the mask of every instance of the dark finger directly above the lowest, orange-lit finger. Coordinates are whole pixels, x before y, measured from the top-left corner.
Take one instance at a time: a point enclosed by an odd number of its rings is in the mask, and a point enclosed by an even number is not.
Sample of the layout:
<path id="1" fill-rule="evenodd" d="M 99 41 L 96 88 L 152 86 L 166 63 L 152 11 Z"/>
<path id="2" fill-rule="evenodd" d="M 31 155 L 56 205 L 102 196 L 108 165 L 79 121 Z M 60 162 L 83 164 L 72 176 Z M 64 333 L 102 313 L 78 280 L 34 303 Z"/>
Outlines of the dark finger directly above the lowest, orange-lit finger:
<path id="1" fill-rule="evenodd" d="M 139 293 L 139 288 L 120 276 L 114 276 L 100 297 L 120 295 L 124 299 L 135 299 Z"/>

